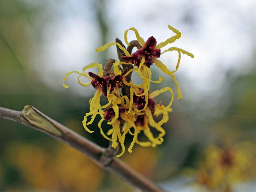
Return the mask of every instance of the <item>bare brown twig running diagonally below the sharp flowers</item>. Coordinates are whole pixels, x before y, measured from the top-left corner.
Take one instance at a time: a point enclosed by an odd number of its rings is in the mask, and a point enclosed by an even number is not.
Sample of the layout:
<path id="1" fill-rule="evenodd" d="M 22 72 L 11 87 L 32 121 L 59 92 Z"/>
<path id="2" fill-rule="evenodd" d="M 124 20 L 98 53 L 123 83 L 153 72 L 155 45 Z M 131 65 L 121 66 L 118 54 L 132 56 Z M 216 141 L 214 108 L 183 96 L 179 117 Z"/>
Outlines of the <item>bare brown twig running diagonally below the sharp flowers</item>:
<path id="1" fill-rule="evenodd" d="M 142 191 L 162 191 L 154 183 L 131 169 L 120 159 L 108 156 L 104 148 L 50 119 L 50 117 L 30 105 L 25 106 L 22 111 L 0 107 L 0 117 L 16 121 L 68 144 L 91 158 L 98 166 L 114 173 L 134 187 L 140 188 Z"/>

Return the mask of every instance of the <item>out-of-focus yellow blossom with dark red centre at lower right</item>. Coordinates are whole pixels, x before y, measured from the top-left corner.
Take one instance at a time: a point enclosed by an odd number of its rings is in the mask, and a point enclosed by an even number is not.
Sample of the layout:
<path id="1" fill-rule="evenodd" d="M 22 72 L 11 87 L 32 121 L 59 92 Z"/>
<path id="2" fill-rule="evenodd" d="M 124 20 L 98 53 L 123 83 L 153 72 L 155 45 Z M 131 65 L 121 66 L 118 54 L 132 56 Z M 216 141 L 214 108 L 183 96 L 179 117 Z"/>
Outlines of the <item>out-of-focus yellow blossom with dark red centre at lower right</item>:
<path id="1" fill-rule="evenodd" d="M 195 175 L 203 191 L 232 191 L 235 183 L 255 179 L 255 144 L 242 141 L 225 149 L 209 146 Z"/>

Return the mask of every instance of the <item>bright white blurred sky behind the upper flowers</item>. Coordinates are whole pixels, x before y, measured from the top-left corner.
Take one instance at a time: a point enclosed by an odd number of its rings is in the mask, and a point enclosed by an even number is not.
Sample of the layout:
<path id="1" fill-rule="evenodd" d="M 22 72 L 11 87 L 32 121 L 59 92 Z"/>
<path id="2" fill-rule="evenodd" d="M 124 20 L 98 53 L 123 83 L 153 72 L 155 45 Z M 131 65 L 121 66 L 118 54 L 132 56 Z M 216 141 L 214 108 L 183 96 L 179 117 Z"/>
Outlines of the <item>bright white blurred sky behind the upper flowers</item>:
<path id="1" fill-rule="evenodd" d="M 31 6 L 38 1 L 28 1 Z M 41 30 L 38 49 L 31 50 L 31 65 L 39 71 L 40 78 L 53 89 L 64 90 L 62 79 L 65 73 L 81 71 L 83 66 L 101 62 L 101 33 L 96 22 L 93 1 L 45 1 L 38 19 L 45 22 Z M 192 59 L 181 56 L 180 68 L 176 73 L 182 89 L 196 88 L 194 97 L 202 93 L 213 93 L 225 87 L 227 71 L 247 73 L 255 59 L 255 1 L 104 1 L 103 14 L 108 26 L 108 42 L 115 37 L 123 41 L 124 31 L 137 28 L 140 36 L 147 40 L 154 36 L 162 42 L 173 36 L 168 24 L 181 31 L 182 36 L 175 43 L 161 50 L 176 46 L 195 55 Z M 36 23 L 36 19 L 35 19 Z M 40 27 L 40 23 L 35 26 Z M 28 28 L 28 30 L 31 30 Z M 128 40 L 134 40 L 133 32 Z M 124 42 L 124 41 L 123 41 Z M 116 58 L 116 48 L 108 50 L 108 58 Z M 167 52 L 160 60 L 175 69 L 177 52 Z M 252 57 L 253 55 L 253 57 Z M 158 70 L 159 71 L 159 70 Z M 183 79 L 186 77 L 186 80 Z M 74 94 L 92 94 L 93 88 L 83 88 L 77 84 L 77 75 L 72 75 L 67 83 Z M 173 88 L 175 89 L 175 87 Z"/>

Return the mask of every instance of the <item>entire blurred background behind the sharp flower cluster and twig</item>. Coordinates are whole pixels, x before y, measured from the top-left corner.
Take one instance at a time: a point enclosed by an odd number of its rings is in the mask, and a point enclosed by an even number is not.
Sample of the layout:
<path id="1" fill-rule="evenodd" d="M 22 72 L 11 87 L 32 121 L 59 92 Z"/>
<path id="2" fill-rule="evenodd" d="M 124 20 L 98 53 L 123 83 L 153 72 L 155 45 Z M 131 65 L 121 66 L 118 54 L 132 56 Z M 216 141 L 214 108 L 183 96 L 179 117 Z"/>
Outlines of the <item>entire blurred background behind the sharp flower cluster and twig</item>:
<path id="1" fill-rule="evenodd" d="M 164 142 L 135 145 L 120 158 L 167 191 L 255 191 L 255 1 L 0 4 L 1 107 L 21 111 L 31 104 L 102 147 L 109 143 L 100 131 L 87 133 L 81 124 L 94 89 L 79 86 L 75 74 L 67 80 L 70 88 L 63 88 L 65 74 L 118 59 L 114 46 L 95 49 L 116 37 L 124 42 L 130 27 L 158 43 L 173 36 L 168 24 L 181 31 L 166 49 L 176 46 L 195 57 L 181 55 L 176 78 L 183 98 L 173 102 Z M 134 39 L 129 32 L 128 41 Z M 160 58 L 170 70 L 177 59 L 177 52 Z M 163 76 L 151 69 L 153 78 Z M 164 77 L 151 90 L 176 90 Z M 168 95 L 156 101 L 167 103 Z M 75 149 L 25 126 L 1 119 L 0 137 L 1 191 L 137 191 Z"/>

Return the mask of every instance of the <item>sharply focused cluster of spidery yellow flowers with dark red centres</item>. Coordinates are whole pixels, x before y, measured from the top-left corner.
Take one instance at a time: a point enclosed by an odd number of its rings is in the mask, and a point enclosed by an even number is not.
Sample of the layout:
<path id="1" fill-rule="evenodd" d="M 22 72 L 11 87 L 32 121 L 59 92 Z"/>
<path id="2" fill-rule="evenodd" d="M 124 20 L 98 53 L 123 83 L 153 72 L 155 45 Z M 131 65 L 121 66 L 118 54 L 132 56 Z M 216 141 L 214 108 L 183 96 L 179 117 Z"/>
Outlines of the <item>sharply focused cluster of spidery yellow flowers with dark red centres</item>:
<path id="1" fill-rule="evenodd" d="M 180 31 L 176 30 L 170 25 L 168 27 L 176 35 L 159 44 L 156 44 L 156 40 L 153 36 L 149 37 L 149 39 L 145 42 L 144 39 L 140 37 L 138 31 L 135 28 L 130 28 L 125 31 L 124 40 L 125 43 L 129 46 L 127 41 L 127 33 L 129 30 L 135 32 L 138 43 L 138 50 L 135 53 L 129 53 L 128 48 L 126 49 L 124 45 L 121 45 L 120 43 L 108 43 L 96 49 L 96 51 L 102 52 L 110 46 L 116 45 L 124 54 L 122 56 L 122 61 L 118 62 L 114 59 L 109 59 L 105 65 L 104 70 L 102 68 L 102 64 L 92 63 L 88 66 L 85 66 L 83 68 L 83 72 L 69 72 L 63 79 L 63 86 L 68 88 L 69 85 L 65 85 L 67 76 L 71 73 L 78 73 L 78 82 L 80 85 L 89 86 L 92 84 L 92 86 L 97 89 L 94 97 L 89 101 L 90 112 L 85 114 L 83 126 L 85 130 L 87 130 L 89 133 L 92 133 L 93 131 L 88 129 L 87 126 L 92 124 L 96 115 L 100 115 L 102 119 L 98 123 L 98 127 L 102 136 L 112 142 L 112 147 L 116 148 L 118 141 L 122 146 L 122 152 L 117 155 L 117 157 L 123 155 L 125 151 L 124 140 L 125 135 L 128 133 L 133 135 L 133 141 L 128 148 L 129 152 L 132 152 L 134 143 L 144 147 L 156 147 L 163 142 L 165 130 L 162 128 L 162 124 L 168 121 L 168 112 L 172 111 L 170 107 L 173 102 L 173 91 L 170 87 L 165 87 L 150 93 L 150 82 L 160 83 L 163 80 L 163 77 L 159 77 L 159 80 L 156 81 L 151 80 L 152 72 L 150 70 L 150 66 L 153 63 L 155 63 L 155 65 L 165 74 L 171 76 L 177 86 L 178 99 L 182 98 L 182 94 L 174 73 L 178 70 L 181 53 L 189 55 L 192 58 L 194 55 L 176 47 L 165 50 L 163 53 L 173 50 L 178 52 L 178 62 L 174 71 L 169 71 L 167 67 L 157 59 L 160 57 L 161 48 L 167 44 L 173 43 L 175 40 L 181 37 Z M 121 68 L 121 65 L 123 66 L 123 69 Z M 124 66 L 126 65 L 132 67 L 125 68 Z M 98 74 L 87 72 L 89 68 L 93 67 L 98 68 Z M 111 67 L 113 70 L 111 70 Z M 127 76 L 131 75 L 132 72 L 136 72 L 138 76 L 143 80 L 141 85 L 136 85 L 132 81 L 128 80 Z M 87 77 L 91 80 L 91 82 L 82 82 L 80 80 L 82 76 Z M 128 89 L 129 94 L 124 95 L 120 93 L 119 88 Z M 153 98 L 166 91 L 170 93 L 169 104 L 167 106 L 164 106 L 161 103 L 156 104 Z M 103 106 L 100 104 L 101 95 L 107 97 L 108 100 L 108 103 Z M 153 119 L 153 116 L 159 116 L 160 114 L 163 114 L 163 117 L 159 122 L 156 122 Z M 88 116 L 91 116 L 91 120 L 87 122 Z M 104 120 L 108 121 L 107 124 L 112 125 L 112 129 L 108 130 L 106 134 L 103 132 L 101 126 Z M 157 137 L 154 137 L 150 130 L 150 126 L 151 128 L 159 131 Z M 147 142 L 141 142 L 138 140 L 138 134 L 141 131 L 143 131 L 143 133 L 148 138 Z"/>

